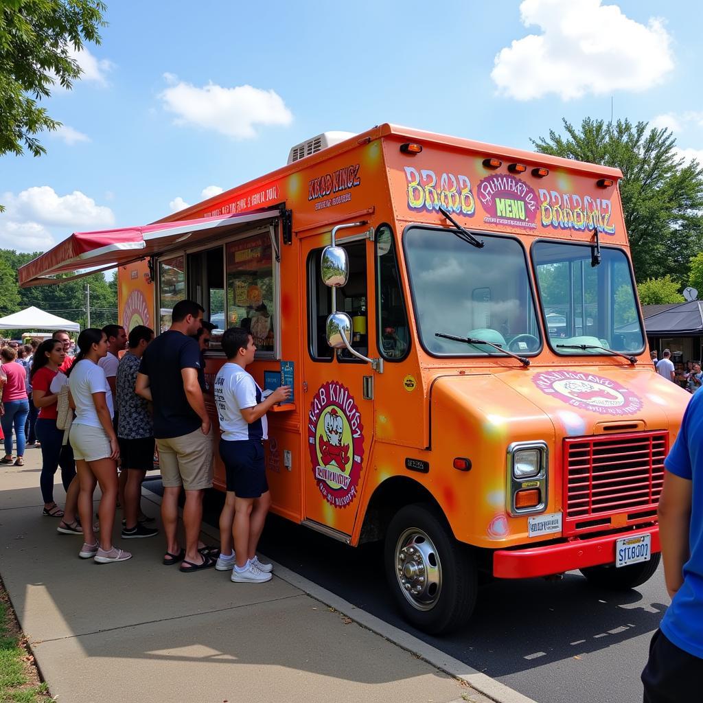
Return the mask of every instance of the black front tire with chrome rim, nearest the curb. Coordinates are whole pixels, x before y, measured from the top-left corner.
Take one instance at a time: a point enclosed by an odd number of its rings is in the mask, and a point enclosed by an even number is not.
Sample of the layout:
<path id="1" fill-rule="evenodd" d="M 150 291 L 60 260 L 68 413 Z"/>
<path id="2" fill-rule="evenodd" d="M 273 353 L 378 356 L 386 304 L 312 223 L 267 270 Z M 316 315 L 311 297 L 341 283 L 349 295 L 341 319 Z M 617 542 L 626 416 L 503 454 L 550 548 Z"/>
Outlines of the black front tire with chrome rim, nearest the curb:
<path id="1" fill-rule="evenodd" d="M 470 619 L 477 593 L 475 560 L 429 505 L 406 505 L 396 513 L 386 532 L 384 562 L 393 598 L 418 630 L 442 635 Z"/>

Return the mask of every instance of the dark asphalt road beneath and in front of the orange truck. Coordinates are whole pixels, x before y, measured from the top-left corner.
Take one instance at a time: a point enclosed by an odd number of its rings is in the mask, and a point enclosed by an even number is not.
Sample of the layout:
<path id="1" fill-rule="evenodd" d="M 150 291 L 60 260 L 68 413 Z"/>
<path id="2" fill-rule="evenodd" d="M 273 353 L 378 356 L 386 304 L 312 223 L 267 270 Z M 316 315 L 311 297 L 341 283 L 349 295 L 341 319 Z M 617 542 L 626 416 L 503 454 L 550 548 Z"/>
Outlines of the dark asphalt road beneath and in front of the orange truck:
<path id="1" fill-rule="evenodd" d="M 156 482 L 149 488 L 158 492 Z M 217 491 L 205 501 L 205 521 L 214 527 L 221 501 Z M 662 567 L 626 593 L 593 588 L 576 572 L 561 581 L 494 581 L 482 587 L 465 631 L 435 638 L 400 619 L 380 545 L 351 548 L 271 515 L 260 549 L 538 703 L 640 703 L 649 640 L 669 603 Z"/>

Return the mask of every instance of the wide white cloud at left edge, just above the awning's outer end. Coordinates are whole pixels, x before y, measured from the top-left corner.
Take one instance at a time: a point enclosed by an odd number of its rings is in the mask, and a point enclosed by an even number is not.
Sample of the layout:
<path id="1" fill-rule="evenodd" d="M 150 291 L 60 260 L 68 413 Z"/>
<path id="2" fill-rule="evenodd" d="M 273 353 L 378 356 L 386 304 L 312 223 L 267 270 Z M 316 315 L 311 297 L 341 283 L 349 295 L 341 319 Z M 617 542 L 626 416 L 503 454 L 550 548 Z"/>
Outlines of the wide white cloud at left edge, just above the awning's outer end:
<path id="1" fill-rule="evenodd" d="M 109 207 L 97 205 L 81 191 L 58 195 L 50 186 L 34 186 L 14 195 L 4 193 L 0 202 L 7 207 L 8 219 L 77 229 L 103 229 L 115 224 Z"/>

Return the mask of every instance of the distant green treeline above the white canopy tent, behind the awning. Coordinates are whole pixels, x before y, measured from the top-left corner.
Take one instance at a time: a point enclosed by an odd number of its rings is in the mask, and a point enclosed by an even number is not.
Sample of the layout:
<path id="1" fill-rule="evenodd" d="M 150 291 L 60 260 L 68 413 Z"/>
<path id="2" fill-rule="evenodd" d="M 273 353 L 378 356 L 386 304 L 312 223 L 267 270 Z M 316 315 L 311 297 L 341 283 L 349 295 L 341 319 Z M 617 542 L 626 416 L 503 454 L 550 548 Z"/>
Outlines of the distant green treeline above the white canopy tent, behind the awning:
<path id="1" fill-rule="evenodd" d="M 113 274 L 110 281 L 105 280 L 102 273 L 92 273 L 91 276 L 70 280 L 66 283 L 19 288 L 17 269 L 32 261 L 40 253 L 25 254 L 11 249 L 0 249 L 0 311 L 2 314 L 6 315 L 34 305 L 41 310 L 75 321 L 81 327 L 85 327 L 87 315 L 84 288 L 88 283 L 90 285 L 91 326 L 103 327 L 108 323 L 117 322 L 117 272 Z M 4 285 L 3 271 L 5 270 L 9 271 L 10 276 L 7 288 Z M 15 297 L 11 298 L 10 295 Z M 3 305 L 6 299 L 15 301 L 13 309 L 4 309 Z"/>

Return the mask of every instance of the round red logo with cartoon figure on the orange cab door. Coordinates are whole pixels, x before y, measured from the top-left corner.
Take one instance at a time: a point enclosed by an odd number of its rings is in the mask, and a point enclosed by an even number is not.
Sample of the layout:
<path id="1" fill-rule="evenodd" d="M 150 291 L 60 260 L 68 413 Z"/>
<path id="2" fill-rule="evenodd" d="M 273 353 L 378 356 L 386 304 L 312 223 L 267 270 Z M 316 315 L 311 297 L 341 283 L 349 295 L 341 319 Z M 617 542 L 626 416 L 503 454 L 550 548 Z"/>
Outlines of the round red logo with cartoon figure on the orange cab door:
<path id="1" fill-rule="evenodd" d="M 354 501 L 363 461 L 363 425 L 349 389 L 337 381 L 319 387 L 310 404 L 308 446 L 320 493 L 335 508 Z"/>

